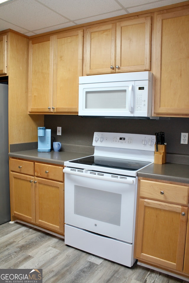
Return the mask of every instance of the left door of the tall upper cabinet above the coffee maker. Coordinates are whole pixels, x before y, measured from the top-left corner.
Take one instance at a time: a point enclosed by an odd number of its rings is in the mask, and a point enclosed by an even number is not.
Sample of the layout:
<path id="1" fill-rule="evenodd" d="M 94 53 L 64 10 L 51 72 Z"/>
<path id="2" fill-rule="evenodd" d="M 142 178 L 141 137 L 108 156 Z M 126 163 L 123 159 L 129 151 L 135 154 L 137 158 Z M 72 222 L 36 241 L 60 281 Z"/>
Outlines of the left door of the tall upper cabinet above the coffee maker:
<path id="1" fill-rule="evenodd" d="M 52 44 L 50 37 L 29 43 L 29 112 L 52 112 Z"/>

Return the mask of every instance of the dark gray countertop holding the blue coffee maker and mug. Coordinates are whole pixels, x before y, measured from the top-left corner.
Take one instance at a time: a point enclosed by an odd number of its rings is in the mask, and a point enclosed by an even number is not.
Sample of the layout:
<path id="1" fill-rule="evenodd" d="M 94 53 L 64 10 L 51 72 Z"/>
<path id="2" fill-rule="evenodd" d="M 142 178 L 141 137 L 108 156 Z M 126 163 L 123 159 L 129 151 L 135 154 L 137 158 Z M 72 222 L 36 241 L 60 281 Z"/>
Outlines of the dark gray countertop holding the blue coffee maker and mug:
<path id="1" fill-rule="evenodd" d="M 34 161 L 61 164 L 61 165 L 64 164 L 64 161 L 81 158 L 89 155 L 91 154 L 83 153 L 83 152 L 70 152 L 70 151 L 55 152 L 53 150 L 51 150 L 50 152 L 38 152 L 37 149 L 9 152 L 10 157 L 30 159 Z"/>

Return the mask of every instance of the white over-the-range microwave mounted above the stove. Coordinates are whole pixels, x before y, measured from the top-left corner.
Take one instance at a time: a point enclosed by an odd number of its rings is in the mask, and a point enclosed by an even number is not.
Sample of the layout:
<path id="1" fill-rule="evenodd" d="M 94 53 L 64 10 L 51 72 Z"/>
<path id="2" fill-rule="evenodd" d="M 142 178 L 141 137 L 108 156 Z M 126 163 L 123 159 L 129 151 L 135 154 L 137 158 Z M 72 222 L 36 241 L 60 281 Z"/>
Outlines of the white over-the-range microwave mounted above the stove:
<path id="1" fill-rule="evenodd" d="M 152 117 L 152 78 L 149 71 L 79 77 L 79 116 Z"/>

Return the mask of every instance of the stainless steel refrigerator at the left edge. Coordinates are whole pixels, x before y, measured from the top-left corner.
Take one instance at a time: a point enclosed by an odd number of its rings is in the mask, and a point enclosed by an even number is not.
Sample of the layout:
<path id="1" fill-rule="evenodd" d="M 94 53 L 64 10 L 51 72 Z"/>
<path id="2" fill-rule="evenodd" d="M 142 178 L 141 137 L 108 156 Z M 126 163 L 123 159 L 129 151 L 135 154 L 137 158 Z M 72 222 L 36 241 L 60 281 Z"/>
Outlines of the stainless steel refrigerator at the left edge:
<path id="1" fill-rule="evenodd" d="M 10 221 L 8 85 L 0 83 L 0 224 Z"/>

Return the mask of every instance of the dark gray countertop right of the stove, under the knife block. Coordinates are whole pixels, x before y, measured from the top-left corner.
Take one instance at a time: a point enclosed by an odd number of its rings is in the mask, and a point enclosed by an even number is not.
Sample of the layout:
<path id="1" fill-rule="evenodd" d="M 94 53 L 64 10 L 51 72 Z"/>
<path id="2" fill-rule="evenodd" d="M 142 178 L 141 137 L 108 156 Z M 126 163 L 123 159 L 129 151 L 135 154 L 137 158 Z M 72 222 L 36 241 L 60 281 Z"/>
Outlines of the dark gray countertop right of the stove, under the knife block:
<path id="1" fill-rule="evenodd" d="M 189 165 L 178 163 L 151 164 L 140 170 L 137 176 L 189 184 Z"/>

